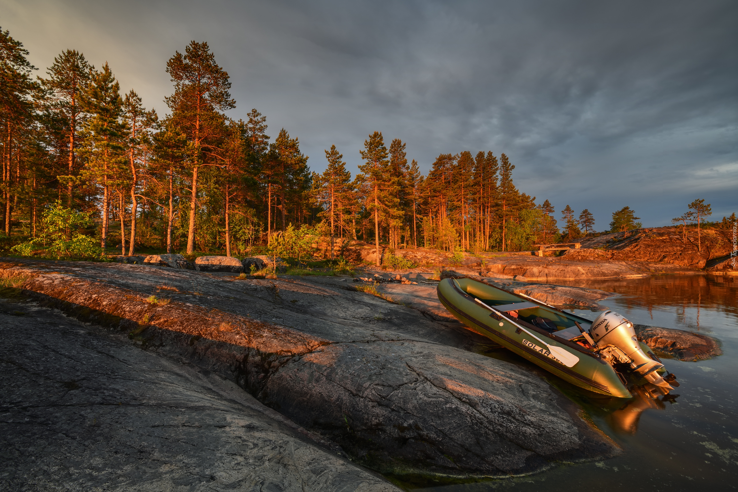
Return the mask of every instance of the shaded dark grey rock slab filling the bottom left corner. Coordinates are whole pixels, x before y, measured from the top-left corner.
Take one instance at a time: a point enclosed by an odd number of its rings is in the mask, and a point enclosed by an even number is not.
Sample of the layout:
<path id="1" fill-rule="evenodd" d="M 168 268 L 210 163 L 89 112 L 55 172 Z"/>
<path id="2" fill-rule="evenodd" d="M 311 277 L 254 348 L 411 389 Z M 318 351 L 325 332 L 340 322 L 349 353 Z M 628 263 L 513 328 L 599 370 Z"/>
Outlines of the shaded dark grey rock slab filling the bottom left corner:
<path id="1" fill-rule="evenodd" d="M 230 381 L 0 302 L 0 489 L 396 491 Z"/>

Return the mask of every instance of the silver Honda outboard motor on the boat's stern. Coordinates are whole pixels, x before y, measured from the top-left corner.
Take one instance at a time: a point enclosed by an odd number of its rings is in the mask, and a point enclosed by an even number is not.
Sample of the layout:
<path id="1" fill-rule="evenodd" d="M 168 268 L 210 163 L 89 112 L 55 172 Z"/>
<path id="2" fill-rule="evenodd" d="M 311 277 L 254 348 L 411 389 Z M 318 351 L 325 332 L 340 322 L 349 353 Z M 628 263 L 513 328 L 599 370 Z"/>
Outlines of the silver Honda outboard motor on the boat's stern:
<path id="1" fill-rule="evenodd" d="M 633 324 L 615 311 L 604 311 L 592 322 L 590 335 L 597 349 L 607 361 L 617 360 L 630 364 L 630 368 L 658 387 L 663 394 L 672 388 L 656 371 L 663 367 L 658 361 L 646 356 L 638 344 Z"/>

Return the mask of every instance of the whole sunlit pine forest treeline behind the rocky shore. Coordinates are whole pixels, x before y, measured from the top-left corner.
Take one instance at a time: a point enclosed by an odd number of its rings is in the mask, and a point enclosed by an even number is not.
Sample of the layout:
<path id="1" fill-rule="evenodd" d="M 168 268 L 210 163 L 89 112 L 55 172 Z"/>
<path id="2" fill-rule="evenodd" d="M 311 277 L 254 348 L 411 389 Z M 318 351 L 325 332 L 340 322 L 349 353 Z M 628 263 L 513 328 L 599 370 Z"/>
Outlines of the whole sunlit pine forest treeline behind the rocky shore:
<path id="1" fill-rule="evenodd" d="M 299 139 L 284 128 L 271 139 L 256 109 L 246 120 L 227 117 L 230 79 L 207 43 L 193 41 L 166 63 L 165 115 L 134 90 L 122 94 L 108 63 L 98 69 L 68 49 L 45 77 L 34 76 L 21 42 L 0 30 L 0 44 L 6 239 L 38 238 L 61 209 L 86 214 L 103 251 L 123 254 L 142 246 L 245 254 L 290 225 L 393 248 L 472 252 L 593 231 L 592 214 L 568 205 L 559 230 L 548 200 L 537 205 L 514 186 L 505 153 L 441 154 L 424 176 L 404 142 L 374 132 L 353 178 L 335 145 L 325 150 L 325 172 L 311 172 Z M 615 226 L 637 225 L 630 208 L 616 213 Z"/>

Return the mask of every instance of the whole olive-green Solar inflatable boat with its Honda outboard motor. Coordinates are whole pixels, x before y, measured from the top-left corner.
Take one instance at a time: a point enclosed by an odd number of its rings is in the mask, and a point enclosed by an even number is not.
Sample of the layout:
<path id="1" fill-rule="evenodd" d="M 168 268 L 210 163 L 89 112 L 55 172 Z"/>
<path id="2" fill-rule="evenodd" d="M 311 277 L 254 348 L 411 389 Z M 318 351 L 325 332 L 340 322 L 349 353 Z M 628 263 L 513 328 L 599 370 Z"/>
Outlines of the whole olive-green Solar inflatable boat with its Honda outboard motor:
<path id="1" fill-rule="evenodd" d="M 635 338 L 632 323 L 613 311 L 590 322 L 468 277 L 441 280 L 438 299 L 470 329 L 576 386 L 630 398 L 624 373 L 632 373 L 646 379 L 649 391 L 666 395 L 673 389 L 661 377 L 661 361 Z"/>

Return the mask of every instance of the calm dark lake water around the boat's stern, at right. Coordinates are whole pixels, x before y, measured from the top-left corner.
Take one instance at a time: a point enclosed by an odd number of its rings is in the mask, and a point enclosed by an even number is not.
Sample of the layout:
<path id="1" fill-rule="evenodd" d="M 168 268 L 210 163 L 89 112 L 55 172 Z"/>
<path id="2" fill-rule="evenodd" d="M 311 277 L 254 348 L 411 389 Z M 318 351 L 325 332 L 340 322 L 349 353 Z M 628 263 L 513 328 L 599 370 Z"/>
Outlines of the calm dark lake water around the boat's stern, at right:
<path id="1" fill-rule="evenodd" d="M 553 282 L 552 282 L 553 283 Z M 723 356 L 686 362 L 662 358 L 680 387 L 654 400 L 596 398 L 557 378 L 551 384 L 582 406 L 624 454 L 554 465 L 526 477 L 461 485 L 405 484 L 413 491 L 557 492 L 730 491 L 738 489 L 738 277 L 660 275 L 632 280 L 557 282 L 618 295 L 602 305 L 644 325 L 679 328 L 718 339 Z M 592 311 L 573 311 L 594 319 Z M 528 365 L 507 350 L 497 357 Z"/>

